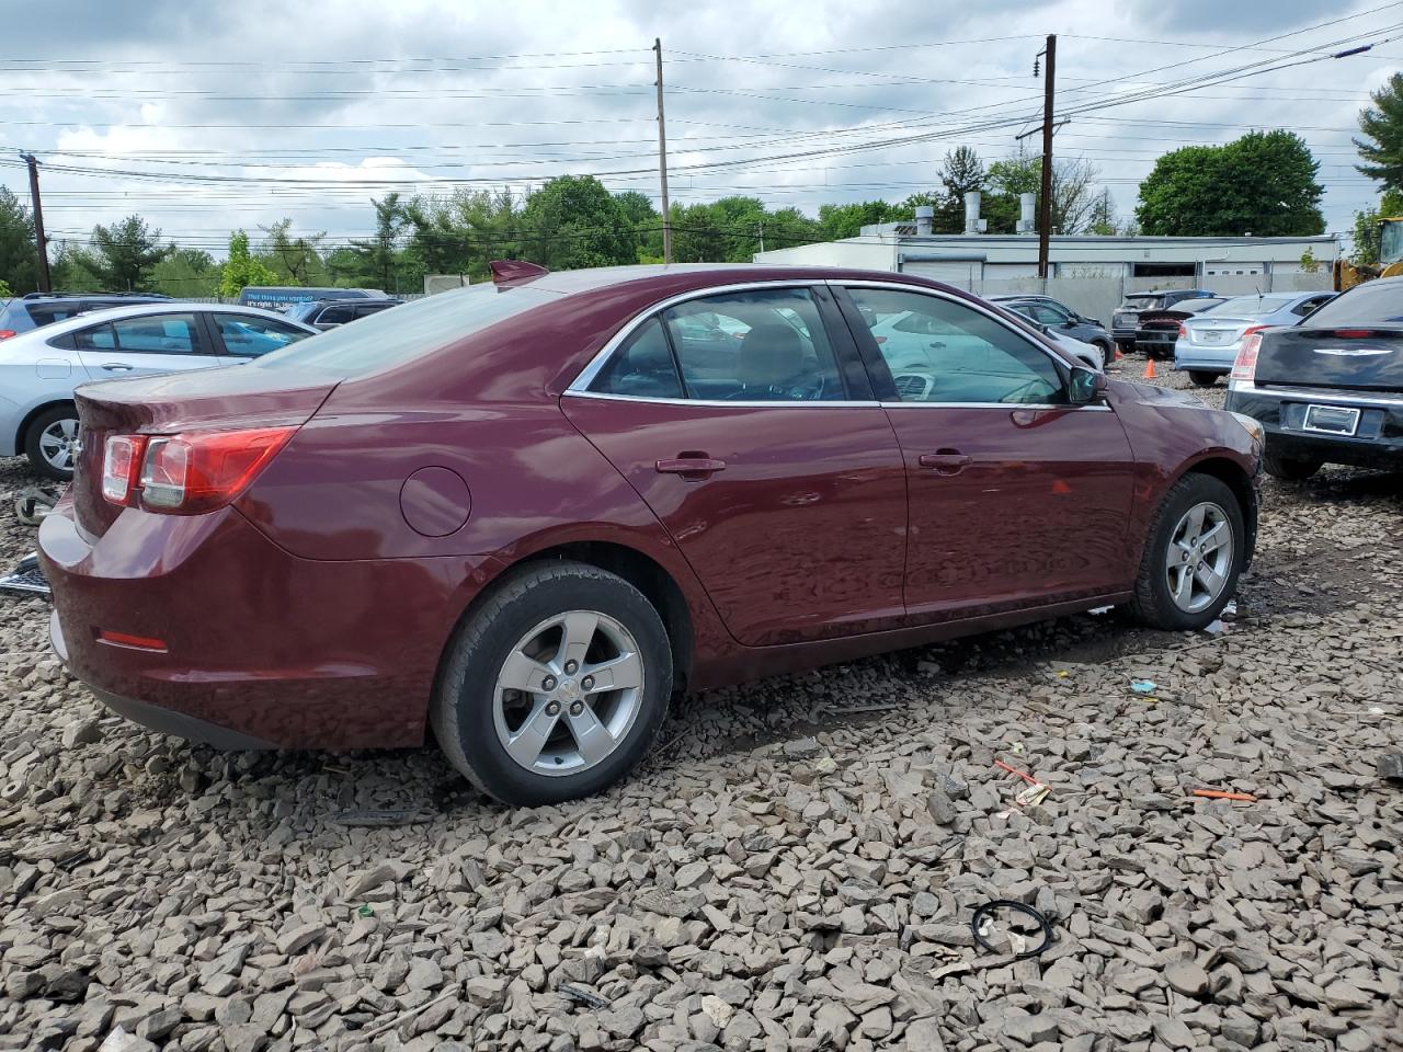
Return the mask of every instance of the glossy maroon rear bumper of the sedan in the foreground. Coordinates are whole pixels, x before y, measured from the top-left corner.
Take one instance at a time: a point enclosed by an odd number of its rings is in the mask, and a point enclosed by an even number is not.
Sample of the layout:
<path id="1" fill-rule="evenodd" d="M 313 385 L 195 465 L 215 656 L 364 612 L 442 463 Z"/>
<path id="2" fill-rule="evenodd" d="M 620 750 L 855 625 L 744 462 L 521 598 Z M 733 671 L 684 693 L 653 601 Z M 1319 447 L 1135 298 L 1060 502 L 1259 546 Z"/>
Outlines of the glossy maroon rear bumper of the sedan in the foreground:
<path id="1" fill-rule="evenodd" d="M 439 656 L 492 562 L 304 560 L 227 508 L 126 509 L 101 539 L 70 516 L 60 502 L 39 527 L 59 656 L 115 711 L 231 748 L 422 743 Z"/>

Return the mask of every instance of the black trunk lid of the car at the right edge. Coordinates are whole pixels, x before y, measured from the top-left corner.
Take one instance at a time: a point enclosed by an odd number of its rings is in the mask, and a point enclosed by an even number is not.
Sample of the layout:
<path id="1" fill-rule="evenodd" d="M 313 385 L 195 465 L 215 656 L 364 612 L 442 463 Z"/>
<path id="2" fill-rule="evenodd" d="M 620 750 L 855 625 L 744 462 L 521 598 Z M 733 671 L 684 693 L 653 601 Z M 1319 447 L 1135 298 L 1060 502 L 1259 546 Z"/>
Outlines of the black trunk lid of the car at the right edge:
<path id="1" fill-rule="evenodd" d="M 1403 391 L 1403 325 L 1268 330 L 1257 353 L 1254 382 Z"/>

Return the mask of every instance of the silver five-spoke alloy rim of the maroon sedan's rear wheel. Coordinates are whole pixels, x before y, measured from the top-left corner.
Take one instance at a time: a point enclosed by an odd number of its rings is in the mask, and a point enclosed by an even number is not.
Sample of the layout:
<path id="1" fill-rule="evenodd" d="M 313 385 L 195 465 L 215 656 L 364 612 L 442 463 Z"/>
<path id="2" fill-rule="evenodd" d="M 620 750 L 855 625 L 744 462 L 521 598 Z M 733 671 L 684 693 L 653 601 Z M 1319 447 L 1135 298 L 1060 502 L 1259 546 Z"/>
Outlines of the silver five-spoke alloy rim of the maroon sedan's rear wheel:
<path id="1" fill-rule="evenodd" d="M 535 774 L 579 774 L 627 738 L 643 706 L 633 634 L 593 610 L 549 617 L 508 652 L 492 692 L 497 738 Z"/>

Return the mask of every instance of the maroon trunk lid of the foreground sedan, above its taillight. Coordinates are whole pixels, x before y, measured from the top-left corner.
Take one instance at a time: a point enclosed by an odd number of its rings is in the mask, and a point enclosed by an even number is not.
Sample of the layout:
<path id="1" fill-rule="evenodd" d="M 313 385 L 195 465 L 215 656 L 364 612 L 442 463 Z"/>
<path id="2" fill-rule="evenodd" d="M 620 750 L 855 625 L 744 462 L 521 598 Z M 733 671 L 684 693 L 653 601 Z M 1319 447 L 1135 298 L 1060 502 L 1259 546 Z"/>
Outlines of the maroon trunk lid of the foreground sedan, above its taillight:
<path id="1" fill-rule="evenodd" d="M 229 367 L 83 384 L 74 391 L 83 443 L 72 488 L 79 525 L 101 536 L 122 511 L 102 498 L 109 435 L 299 426 L 338 382 L 323 372 Z"/>

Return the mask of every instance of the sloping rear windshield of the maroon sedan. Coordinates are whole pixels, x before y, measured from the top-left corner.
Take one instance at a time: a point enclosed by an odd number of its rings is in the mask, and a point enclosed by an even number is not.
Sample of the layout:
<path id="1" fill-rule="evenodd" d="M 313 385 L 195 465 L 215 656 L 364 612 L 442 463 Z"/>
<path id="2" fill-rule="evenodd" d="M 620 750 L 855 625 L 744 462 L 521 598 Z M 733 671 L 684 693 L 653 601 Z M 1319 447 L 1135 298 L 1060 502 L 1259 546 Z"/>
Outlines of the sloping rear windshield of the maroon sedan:
<path id="1" fill-rule="evenodd" d="M 473 285 L 382 310 L 264 355 L 248 369 L 286 366 L 363 376 L 412 360 L 556 299 L 543 289 Z"/>

